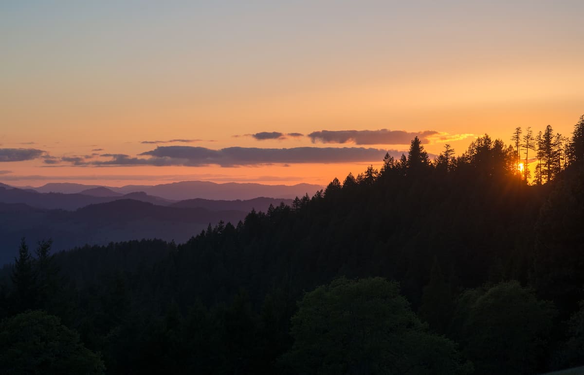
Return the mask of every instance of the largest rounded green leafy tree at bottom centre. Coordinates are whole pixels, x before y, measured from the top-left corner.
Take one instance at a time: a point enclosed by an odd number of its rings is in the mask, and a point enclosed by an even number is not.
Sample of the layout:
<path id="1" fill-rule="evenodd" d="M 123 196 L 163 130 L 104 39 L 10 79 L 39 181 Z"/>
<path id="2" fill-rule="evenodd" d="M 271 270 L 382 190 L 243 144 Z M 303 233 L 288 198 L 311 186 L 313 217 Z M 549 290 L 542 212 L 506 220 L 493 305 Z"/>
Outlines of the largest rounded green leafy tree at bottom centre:
<path id="1" fill-rule="evenodd" d="M 282 358 L 302 374 L 464 374 L 456 344 L 428 332 L 381 278 L 339 278 L 306 293 L 291 320 L 293 348 Z"/>

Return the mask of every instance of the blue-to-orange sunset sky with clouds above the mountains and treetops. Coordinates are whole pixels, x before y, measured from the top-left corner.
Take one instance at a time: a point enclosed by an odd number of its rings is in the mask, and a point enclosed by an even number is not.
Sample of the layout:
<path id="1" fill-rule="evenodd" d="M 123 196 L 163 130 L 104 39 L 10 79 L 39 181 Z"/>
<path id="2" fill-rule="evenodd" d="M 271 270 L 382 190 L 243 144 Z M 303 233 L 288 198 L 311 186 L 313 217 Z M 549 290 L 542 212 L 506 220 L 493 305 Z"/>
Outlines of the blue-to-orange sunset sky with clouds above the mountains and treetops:
<path id="1" fill-rule="evenodd" d="M 584 113 L 582 1 L 2 1 L 0 182 L 325 185 Z"/>

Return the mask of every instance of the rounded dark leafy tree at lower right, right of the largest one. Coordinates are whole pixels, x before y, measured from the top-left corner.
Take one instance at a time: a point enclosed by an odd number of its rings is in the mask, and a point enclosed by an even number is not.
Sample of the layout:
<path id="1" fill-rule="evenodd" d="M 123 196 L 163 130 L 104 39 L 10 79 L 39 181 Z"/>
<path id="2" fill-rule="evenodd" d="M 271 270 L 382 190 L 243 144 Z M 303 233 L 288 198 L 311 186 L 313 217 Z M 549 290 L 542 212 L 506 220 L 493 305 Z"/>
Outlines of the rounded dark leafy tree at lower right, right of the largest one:
<path id="1" fill-rule="evenodd" d="M 458 337 L 477 374 L 533 374 L 541 369 L 556 315 L 519 282 L 502 282 L 461 296 Z"/>

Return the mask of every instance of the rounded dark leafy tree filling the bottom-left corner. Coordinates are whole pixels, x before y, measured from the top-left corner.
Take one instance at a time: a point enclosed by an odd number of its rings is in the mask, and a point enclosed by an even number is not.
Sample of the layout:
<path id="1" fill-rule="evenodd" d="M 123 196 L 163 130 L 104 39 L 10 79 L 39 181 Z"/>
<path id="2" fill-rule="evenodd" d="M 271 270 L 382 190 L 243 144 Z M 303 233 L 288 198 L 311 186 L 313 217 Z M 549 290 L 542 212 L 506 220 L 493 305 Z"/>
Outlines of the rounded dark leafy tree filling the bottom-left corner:
<path id="1" fill-rule="evenodd" d="M 5 374 L 103 374 L 96 353 L 79 335 L 43 311 L 29 311 L 0 324 L 0 369 Z"/>

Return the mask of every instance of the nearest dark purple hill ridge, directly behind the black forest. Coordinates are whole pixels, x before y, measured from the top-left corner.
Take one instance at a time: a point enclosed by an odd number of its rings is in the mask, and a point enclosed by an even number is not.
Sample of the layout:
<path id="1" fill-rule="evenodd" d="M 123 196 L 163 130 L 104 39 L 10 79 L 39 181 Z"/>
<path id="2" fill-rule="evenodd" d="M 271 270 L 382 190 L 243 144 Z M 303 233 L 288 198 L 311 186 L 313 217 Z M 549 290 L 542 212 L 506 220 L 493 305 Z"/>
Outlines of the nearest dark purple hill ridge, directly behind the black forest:
<path id="1" fill-rule="evenodd" d="M 92 204 L 76 211 L 0 203 L 0 265 L 14 260 L 21 237 L 29 244 L 52 238 L 54 251 L 137 238 L 185 242 L 220 220 L 237 225 L 247 213 L 160 206 L 134 199 Z"/>

